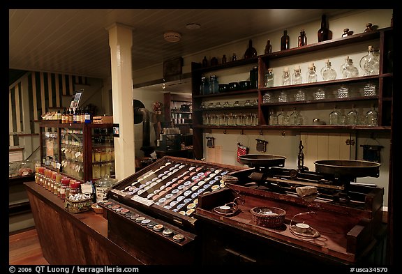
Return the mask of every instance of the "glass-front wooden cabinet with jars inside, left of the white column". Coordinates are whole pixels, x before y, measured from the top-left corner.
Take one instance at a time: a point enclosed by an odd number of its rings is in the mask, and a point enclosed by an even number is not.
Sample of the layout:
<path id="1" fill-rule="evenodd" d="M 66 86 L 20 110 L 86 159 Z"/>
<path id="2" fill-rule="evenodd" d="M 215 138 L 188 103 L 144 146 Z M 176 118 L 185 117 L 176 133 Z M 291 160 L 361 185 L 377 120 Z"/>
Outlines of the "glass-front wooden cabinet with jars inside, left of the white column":
<path id="1" fill-rule="evenodd" d="M 41 165 L 75 180 L 114 177 L 112 124 L 40 123 Z"/>

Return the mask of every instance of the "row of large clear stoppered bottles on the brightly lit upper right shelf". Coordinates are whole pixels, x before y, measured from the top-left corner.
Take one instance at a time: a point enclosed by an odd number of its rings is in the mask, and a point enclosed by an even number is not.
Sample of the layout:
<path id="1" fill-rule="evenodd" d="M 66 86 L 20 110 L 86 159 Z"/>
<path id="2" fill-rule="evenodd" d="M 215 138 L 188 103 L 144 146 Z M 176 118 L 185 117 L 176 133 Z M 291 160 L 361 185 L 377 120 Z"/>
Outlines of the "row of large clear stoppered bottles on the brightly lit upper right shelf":
<path id="1" fill-rule="evenodd" d="M 374 51 L 375 50 L 371 45 L 368 46 L 367 54 L 363 56 L 362 59 L 360 60 L 359 65 L 364 72 L 364 76 L 378 75 L 378 73 L 380 72 L 380 61 L 378 56 L 373 54 Z M 355 67 L 353 60 L 350 59 L 349 56 L 345 58 L 345 62 L 341 65 L 340 73 L 343 79 L 359 76 L 359 70 Z M 325 65 L 321 68 L 320 75 L 322 76 L 322 80 L 324 81 L 336 79 L 336 70 L 332 68 L 329 59 L 325 61 Z M 303 83 L 314 83 L 314 82 L 318 82 L 318 73 L 315 69 L 314 63 L 310 63 L 308 65 L 306 78 L 304 80 L 299 65 L 295 66 L 292 75 L 290 74 L 289 67 L 283 68 L 282 82 L 281 82 L 283 86 L 290 84 L 303 84 Z M 267 73 L 265 73 L 264 86 L 265 87 L 274 86 L 274 70 L 272 68 L 269 68 L 267 70 Z"/>

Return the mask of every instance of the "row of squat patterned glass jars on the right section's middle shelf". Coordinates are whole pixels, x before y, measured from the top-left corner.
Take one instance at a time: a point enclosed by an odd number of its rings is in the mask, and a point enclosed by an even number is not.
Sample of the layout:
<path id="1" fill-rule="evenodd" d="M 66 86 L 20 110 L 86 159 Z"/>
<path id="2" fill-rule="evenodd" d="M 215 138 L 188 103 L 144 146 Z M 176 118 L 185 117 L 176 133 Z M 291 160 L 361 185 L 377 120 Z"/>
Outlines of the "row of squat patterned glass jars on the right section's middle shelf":
<path id="1" fill-rule="evenodd" d="M 280 91 L 278 94 L 267 91 L 264 96 L 262 96 L 262 103 L 297 102 L 306 100 L 324 100 L 330 98 L 345 99 L 359 96 L 376 96 L 378 94 L 378 86 L 374 82 L 367 82 L 364 84 L 362 89 L 352 89 L 345 84 L 341 84 L 335 87 L 320 87 L 311 90 L 311 94 L 306 93 L 304 89 L 298 89 L 296 92 Z"/>

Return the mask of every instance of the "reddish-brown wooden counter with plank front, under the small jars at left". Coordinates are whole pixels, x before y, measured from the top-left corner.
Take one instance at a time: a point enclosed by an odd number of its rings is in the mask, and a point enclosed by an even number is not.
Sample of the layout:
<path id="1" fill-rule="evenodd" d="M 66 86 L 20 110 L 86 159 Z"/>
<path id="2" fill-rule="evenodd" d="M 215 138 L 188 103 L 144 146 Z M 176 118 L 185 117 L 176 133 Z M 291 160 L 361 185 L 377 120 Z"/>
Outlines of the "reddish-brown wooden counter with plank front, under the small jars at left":
<path id="1" fill-rule="evenodd" d="M 107 238 L 107 220 L 94 211 L 68 213 L 64 200 L 34 181 L 24 183 L 43 256 L 49 264 L 142 265 Z"/>

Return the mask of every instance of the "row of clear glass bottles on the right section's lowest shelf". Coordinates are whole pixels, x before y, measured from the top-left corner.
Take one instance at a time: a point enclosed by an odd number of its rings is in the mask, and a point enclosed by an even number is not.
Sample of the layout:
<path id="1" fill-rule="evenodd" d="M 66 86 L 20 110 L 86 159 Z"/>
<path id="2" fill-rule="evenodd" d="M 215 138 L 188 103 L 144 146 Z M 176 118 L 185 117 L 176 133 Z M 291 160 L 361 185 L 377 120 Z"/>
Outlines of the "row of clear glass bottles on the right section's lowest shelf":
<path id="1" fill-rule="evenodd" d="M 313 119 L 313 125 L 325 125 L 325 121 Z M 292 113 L 281 109 L 276 113 L 274 109 L 269 112 L 268 125 L 306 125 L 305 118 L 301 112 L 293 108 Z M 352 105 L 350 112 L 345 113 L 345 109 L 334 107 L 329 113 L 329 125 L 378 125 L 378 111 L 374 106 L 364 113 L 364 110 L 358 111 L 355 105 Z"/>

